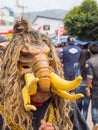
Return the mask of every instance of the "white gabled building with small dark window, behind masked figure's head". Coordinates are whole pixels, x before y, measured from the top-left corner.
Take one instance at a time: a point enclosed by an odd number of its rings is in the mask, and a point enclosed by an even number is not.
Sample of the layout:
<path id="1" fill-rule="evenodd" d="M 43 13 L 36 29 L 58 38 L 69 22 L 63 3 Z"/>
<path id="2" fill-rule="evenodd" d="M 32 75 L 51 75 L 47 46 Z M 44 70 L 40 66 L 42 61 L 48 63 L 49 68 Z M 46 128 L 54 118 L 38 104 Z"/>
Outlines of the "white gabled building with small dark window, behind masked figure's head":
<path id="1" fill-rule="evenodd" d="M 64 26 L 62 19 L 45 16 L 37 16 L 32 23 L 32 28 L 48 35 L 55 34 L 60 27 Z"/>

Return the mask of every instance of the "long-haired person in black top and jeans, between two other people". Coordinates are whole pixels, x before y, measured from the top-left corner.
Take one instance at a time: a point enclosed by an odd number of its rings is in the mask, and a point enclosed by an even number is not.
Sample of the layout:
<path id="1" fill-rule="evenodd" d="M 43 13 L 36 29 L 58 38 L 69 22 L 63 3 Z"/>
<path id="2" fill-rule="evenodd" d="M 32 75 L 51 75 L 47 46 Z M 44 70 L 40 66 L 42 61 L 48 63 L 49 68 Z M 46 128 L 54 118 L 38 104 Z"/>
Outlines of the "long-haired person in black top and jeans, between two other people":
<path id="1" fill-rule="evenodd" d="M 80 53 L 79 62 L 74 64 L 75 77 L 81 75 L 83 78 L 81 85 L 75 90 L 75 93 L 82 93 L 84 95 L 83 98 L 78 99 L 76 102 L 80 112 L 83 111 L 83 117 L 85 120 L 87 120 L 88 107 L 90 103 L 90 97 L 86 95 L 87 80 L 86 80 L 86 66 L 85 66 L 85 63 L 89 58 L 90 54 L 88 50 L 82 49 Z"/>

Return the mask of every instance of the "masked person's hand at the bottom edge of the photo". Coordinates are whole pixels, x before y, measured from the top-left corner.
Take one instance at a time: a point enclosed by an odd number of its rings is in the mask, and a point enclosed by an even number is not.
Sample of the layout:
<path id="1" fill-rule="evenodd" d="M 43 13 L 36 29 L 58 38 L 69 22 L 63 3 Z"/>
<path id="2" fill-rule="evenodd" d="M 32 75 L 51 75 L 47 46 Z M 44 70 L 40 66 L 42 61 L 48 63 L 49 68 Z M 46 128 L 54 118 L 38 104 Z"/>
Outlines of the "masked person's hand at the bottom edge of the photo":
<path id="1" fill-rule="evenodd" d="M 39 127 L 39 130 L 55 130 L 55 128 L 51 123 L 41 120 L 41 125 Z"/>

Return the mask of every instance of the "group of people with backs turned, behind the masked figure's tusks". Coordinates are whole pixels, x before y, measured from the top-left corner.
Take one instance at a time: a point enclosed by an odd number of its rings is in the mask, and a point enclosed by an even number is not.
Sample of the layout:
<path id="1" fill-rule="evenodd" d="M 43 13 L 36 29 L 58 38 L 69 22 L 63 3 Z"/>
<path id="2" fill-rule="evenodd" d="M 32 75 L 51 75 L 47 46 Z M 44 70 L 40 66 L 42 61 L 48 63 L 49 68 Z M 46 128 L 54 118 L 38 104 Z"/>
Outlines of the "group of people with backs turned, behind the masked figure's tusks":
<path id="1" fill-rule="evenodd" d="M 87 121 L 91 101 L 93 130 L 98 130 L 98 44 L 93 42 L 79 46 L 74 44 L 73 38 L 68 37 L 67 43 L 57 54 L 63 64 L 65 79 L 73 80 L 79 75 L 83 77 L 80 86 L 73 92 L 81 92 L 84 97 L 76 103 Z"/>

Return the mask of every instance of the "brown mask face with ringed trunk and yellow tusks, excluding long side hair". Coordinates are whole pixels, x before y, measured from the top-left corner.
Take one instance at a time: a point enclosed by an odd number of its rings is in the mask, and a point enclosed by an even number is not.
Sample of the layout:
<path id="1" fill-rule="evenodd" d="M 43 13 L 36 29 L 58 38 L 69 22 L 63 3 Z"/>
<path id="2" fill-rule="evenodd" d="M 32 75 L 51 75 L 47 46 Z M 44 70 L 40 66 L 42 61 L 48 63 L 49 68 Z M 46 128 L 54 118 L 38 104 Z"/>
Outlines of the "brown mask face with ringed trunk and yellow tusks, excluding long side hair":
<path id="1" fill-rule="evenodd" d="M 32 37 L 32 32 L 35 33 L 35 37 Z M 53 44 L 47 36 L 31 30 L 23 38 L 25 44 L 20 51 L 18 68 L 20 76 L 24 75 L 25 79 L 22 95 L 27 111 L 36 110 L 35 106 L 30 105 L 31 99 L 34 102 L 44 102 L 54 94 L 70 100 L 83 97 L 82 94 L 67 93 L 79 86 L 82 77 L 66 81 L 56 74 L 55 57 L 51 50 Z"/>

